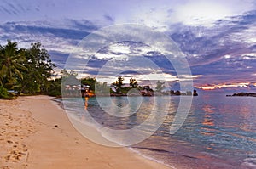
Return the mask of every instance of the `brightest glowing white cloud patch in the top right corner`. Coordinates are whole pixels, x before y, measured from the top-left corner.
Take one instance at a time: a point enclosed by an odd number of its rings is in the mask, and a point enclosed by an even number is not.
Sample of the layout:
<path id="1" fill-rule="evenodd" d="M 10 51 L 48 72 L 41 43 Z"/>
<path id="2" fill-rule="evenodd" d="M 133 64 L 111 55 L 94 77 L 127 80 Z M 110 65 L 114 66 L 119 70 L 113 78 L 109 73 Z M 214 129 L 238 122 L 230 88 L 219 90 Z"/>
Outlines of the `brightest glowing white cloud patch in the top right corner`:
<path id="1" fill-rule="evenodd" d="M 241 6 L 237 4 L 241 4 Z M 184 25 L 212 26 L 217 20 L 243 14 L 253 8 L 253 1 L 247 0 L 189 0 L 177 6 L 174 18 Z"/>

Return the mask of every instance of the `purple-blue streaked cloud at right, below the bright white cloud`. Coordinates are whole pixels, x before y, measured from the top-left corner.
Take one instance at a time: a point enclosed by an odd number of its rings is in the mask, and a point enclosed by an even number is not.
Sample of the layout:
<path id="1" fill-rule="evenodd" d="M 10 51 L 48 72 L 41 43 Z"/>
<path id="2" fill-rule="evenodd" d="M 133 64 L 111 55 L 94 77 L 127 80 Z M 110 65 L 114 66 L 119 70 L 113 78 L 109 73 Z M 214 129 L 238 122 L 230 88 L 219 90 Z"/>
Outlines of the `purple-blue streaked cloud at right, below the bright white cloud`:
<path id="1" fill-rule="evenodd" d="M 233 59 L 243 54 L 253 53 L 255 11 L 218 20 L 215 26 L 181 26 L 171 37 L 188 56 L 191 66 L 209 65 L 229 55 Z M 223 60 L 225 61 L 225 60 Z M 234 61 L 234 60 L 232 60 Z"/>

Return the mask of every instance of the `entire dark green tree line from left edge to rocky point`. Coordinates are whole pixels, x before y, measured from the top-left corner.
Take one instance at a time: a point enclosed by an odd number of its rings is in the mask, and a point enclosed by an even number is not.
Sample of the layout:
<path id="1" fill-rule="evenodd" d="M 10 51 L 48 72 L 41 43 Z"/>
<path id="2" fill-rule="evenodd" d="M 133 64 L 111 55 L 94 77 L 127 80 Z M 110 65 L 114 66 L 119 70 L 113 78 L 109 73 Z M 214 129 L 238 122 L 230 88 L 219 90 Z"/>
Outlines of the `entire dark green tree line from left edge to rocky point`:
<path id="1" fill-rule="evenodd" d="M 86 94 L 95 95 L 154 95 L 154 91 L 149 86 L 140 87 L 137 80 L 130 79 L 130 87 L 123 87 L 124 77 L 119 76 L 112 86 L 107 82 L 96 82 L 95 78 L 85 77 L 78 79 L 78 74 L 73 70 L 61 71 L 61 78 L 50 80 L 54 73 L 55 65 L 51 62 L 46 49 L 42 48 L 40 42 L 32 43 L 31 48 L 18 48 L 17 42 L 8 41 L 6 45 L 0 45 L 0 99 L 14 99 L 15 95 L 25 94 L 48 94 L 50 96 L 60 96 L 63 88 L 68 94 L 79 94 L 82 90 Z M 79 84 L 82 86 L 79 87 Z M 155 92 L 163 93 L 165 82 L 156 82 Z M 75 88 L 73 88 L 73 86 Z M 71 90 L 67 89 L 71 87 Z M 89 89 L 87 88 L 89 87 Z M 110 89 L 111 88 L 111 89 Z M 73 90 L 74 89 L 74 90 Z M 131 90 L 137 89 L 137 90 Z M 168 92 L 167 92 L 168 93 Z M 182 95 L 177 91 L 170 92 L 175 95 Z M 193 95 L 197 94 L 194 91 Z M 192 95 L 191 92 L 186 95 Z"/>

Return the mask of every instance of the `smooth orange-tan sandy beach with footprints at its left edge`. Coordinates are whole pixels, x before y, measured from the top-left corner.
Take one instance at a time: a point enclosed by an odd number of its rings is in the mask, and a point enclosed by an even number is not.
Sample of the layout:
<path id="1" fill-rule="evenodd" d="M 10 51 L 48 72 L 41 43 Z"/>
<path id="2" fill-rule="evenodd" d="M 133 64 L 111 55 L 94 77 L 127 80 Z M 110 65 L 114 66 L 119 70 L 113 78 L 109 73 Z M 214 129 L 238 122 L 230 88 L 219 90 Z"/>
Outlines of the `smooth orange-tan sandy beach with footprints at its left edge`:
<path id="1" fill-rule="evenodd" d="M 50 99 L 0 100 L 0 168 L 169 168 L 90 142 Z"/>

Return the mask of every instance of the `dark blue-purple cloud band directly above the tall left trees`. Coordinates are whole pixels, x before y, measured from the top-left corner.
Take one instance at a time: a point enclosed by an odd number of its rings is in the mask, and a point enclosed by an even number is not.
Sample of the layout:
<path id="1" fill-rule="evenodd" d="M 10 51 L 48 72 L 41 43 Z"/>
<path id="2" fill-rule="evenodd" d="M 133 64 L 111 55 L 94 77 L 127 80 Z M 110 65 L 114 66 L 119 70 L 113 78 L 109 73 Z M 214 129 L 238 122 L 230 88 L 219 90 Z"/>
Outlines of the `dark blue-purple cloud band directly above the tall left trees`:
<path id="1" fill-rule="evenodd" d="M 20 48 L 29 48 L 32 42 L 41 42 L 44 48 L 55 51 L 55 54 L 72 54 L 79 40 L 96 30 L 87 20 L 64 20 L 61 25 L 49 21 L 7 22 L 0 25 L 4 32 L 0 35 L 1 44 L 7 39 L 19 42 Z"/>

